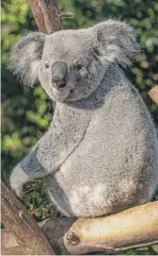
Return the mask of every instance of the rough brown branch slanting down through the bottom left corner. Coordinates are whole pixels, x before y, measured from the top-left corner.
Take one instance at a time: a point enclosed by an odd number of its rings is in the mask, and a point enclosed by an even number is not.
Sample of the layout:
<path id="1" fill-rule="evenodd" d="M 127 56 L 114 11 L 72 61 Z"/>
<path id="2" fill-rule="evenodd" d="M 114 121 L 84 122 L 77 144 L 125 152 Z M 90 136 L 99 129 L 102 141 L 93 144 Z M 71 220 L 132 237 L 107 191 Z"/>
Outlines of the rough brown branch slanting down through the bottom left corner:
<path id="1" fill-rule="evenodd" d="M 12 232 L 17 243 L 24 248 L 25 254 L 55 255 L 55 251 L 34 218 L 3 183 L 1 186 L 1 215 L 2 223 Z"/>

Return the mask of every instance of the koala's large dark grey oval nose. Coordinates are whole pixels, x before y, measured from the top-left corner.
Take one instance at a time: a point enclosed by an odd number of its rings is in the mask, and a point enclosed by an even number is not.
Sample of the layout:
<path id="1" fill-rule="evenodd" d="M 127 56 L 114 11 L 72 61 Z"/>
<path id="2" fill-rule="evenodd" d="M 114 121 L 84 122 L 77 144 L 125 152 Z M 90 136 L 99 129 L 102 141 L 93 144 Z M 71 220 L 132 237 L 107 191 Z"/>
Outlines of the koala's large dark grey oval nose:
<path id="1" fill-rule="evenodd" d="M 65 62 L 55 62 L 52 66 L 52 82 L 56 89 L 67 85 L 68 67 Z"/>

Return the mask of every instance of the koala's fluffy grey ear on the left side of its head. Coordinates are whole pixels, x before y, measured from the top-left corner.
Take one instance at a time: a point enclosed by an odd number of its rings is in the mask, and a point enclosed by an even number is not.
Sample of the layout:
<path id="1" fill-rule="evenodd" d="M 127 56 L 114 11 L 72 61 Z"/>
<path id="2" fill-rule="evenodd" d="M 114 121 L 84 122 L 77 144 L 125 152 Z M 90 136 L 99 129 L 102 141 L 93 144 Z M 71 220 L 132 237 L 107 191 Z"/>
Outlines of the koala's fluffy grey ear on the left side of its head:
<path id="1" fill-rule="evenodd" d="M 18 75 L 25 85 L 38 82 L 38 67 L 41 60 L 46 35 L 31 32 L 12 47 L 8 69 Z"/>

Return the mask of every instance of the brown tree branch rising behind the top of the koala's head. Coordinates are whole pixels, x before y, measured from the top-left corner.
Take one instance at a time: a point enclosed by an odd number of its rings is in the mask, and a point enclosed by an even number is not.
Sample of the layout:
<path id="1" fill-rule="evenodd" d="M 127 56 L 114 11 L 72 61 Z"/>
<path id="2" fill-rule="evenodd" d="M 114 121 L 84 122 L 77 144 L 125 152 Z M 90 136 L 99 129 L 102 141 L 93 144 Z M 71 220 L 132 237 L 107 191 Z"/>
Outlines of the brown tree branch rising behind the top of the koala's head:
<path id="1" fill-rule="evenodd" d="M 39 31 L 51 34 L 62 29 L 56 0 L 28 0 Z"/>

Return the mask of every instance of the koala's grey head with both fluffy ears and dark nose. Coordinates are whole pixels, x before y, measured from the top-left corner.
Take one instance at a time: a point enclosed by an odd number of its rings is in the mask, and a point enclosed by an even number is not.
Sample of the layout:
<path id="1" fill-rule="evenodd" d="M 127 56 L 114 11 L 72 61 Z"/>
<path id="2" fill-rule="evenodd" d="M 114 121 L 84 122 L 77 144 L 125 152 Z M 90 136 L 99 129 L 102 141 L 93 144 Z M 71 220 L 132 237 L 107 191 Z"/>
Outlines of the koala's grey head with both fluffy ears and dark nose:
<path id="1" fill-rule="evenodd" d="M 129 66 L 138 51 L 134 29 L 108 20 L 51 35 L 29 33 L 13 46 L 8 67 L 26 85 L 40 81 L 53 100 L 75 101 L 96 90 L 110 63 Z"/>

